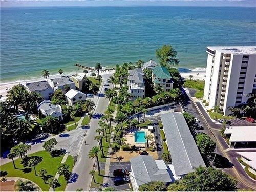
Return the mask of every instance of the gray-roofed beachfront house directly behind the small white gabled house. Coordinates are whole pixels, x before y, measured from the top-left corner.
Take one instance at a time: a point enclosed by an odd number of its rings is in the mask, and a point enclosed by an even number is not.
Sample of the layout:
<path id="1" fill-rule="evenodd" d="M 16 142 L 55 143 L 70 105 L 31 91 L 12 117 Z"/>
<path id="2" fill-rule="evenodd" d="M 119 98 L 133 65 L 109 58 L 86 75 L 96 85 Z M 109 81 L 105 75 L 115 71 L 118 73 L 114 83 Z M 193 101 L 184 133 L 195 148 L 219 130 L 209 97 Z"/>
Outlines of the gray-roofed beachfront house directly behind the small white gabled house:
<path id="1" fill-rule="evenodd" d="M 75 83 L 67 76 L 51 79 L 50 86 L 54 91 L 61 89 L 63 93 L 66 93 L 69 89 L 76 89 Z"/>

